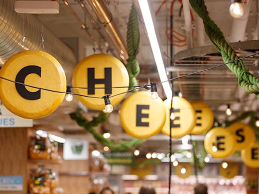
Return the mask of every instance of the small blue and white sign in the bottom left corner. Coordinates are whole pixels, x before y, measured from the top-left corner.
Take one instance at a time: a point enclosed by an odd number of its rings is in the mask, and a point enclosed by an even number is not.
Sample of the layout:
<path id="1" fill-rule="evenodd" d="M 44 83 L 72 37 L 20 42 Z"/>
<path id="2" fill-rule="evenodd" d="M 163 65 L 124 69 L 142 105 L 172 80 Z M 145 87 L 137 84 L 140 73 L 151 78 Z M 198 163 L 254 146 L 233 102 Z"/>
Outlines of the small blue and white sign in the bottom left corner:
<path id="1" fill-rule="evenodd" d="M 22 176 L 0 176 L 0 191 L 22 191 Z"/>

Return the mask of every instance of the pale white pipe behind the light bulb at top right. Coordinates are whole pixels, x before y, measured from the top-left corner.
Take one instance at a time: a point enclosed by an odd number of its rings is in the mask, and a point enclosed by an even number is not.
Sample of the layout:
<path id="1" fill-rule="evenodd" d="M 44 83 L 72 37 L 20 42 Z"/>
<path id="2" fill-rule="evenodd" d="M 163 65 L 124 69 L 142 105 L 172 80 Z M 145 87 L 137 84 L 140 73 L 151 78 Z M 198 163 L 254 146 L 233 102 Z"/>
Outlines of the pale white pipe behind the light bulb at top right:
<path id="1" fill-rule="evenodd" d="M 249 0 L 247 4 L 243 4 L 244 15 L 238 19 L 233 18 L 232 29 L 230 33 L 230 42 L 245 41 L 245 32 L 248 23 L 251 4 L 252 0 Z"/>

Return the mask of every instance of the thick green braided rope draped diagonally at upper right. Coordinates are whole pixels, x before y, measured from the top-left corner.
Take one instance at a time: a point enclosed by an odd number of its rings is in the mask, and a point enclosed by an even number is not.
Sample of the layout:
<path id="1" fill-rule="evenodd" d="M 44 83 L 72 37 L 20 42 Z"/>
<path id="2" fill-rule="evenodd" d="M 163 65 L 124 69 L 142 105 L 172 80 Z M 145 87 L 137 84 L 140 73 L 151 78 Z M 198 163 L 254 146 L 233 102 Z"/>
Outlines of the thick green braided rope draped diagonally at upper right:
<path id="1" fill-rule="evenodd" d="M 239 57 L 235 50 L 225 40 L 220 28 L 210 18 L 204 0 L 189 0 L 192 8 L 202 18 L 205 31 L 213 45 L 219 50 L 224 62 L 236 60 Z M 239 85 L 246 93 L 255 94 L 259 98 L 259 79 L 253 76 L 244 66 L 243 61 L 239 60 L 227 64 L 227 67 L 238 77 Z"/>

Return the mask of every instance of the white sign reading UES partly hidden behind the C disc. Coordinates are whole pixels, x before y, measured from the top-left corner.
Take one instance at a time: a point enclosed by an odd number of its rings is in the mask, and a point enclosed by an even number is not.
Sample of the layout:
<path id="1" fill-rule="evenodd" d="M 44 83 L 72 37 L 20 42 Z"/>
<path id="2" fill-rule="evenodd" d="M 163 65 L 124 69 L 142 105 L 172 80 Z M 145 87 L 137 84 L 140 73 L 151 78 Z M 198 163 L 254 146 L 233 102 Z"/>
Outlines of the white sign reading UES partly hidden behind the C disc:
<path id="1" fill-rule="evenodd" d="M 32 127 L 33 120 L 11 113 L 0 101 L 0 127 Z"/>

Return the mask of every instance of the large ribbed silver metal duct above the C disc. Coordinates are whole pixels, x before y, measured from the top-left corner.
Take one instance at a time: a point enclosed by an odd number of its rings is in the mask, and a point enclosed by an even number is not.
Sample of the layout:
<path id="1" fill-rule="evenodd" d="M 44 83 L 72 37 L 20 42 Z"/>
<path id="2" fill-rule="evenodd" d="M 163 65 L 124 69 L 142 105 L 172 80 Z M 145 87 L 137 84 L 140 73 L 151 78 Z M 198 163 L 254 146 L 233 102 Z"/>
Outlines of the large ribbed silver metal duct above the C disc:
<path id="1" fill-rule="evenodd" d="M 42 50 L 60 62 L 69 84 L 77 63 L 74 53 L 34 15 L 16 13 L 14 1 L 0 0 L 0 65 L 20 51 L 40 50 L 43 32 L 44 48 Z M 24 43 L 22 42 L 23 36 L 26 37 Z"/>

